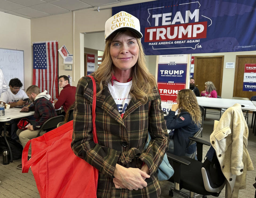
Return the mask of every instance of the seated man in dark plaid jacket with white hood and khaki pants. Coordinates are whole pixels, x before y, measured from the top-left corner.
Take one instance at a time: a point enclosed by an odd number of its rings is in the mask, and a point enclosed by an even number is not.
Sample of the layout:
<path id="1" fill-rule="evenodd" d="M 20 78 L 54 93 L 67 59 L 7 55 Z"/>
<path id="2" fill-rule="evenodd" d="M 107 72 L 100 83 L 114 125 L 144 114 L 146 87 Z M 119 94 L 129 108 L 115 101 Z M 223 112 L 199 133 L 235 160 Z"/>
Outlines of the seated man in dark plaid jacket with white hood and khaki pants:
<path id="1" fill-rule="evenodd" d="M 47 94 L 47 91 L 40 93 L 40 89 L 36 85 L 31 85 L 26 90 L 27 96 L 31 101 L 33 101 L 34 105 L 29 107 L 23 107 L 21 110 L 24 111 L 35 111 L 34 117 L 36 118 L 36 123 L 27 127 L 26 130 L 17 130 L 17 136 L 19 136 L 19 140 L 23 146 L 27 144 L 27 142 L 33 138 L 35 138 L 46 120 L 51 117 L 57 116 L 56 110 L 52 105 L 52 102 L 49 100 L 51 96 Z M 44 134 L 45 131 L 42 131 L 40 135 Z M 31 155 L 31 148 L 29 148 L 28 155 Z M 19 164 L 17 166 L 18 169 L 22 168 L 22 165 Z"/>

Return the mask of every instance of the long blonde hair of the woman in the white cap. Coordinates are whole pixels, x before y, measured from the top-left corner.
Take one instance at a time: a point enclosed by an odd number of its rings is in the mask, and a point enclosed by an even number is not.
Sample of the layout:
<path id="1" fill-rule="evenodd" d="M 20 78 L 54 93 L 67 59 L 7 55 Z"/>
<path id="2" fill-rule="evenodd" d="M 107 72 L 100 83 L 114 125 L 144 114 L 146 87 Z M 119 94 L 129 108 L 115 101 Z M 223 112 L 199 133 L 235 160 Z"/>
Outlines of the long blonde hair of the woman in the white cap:
<path id="1" fill-rule="evenodd" d="M 98 81 L 100 86 L 100 94 L 103 90 L 103 84 L 111 80 L 113 74 L 115 74 L 113 69 L 113 62 L 110 56 L 110 45 L 113 39 L 116 36 L 123 34 L 125 31 L 129 30 L 120 30 L 113 33 L 107 40 L 106 46 L 102 57 L 102 62 L 99 68 L 94 72 L 94 77 Z M 148 101 L 148 94 L 156 86 L 155 77 L 149 73 L 149 70 L 145 63 L 145 54 L 143 47 L 141 45 L 140 39 L 135 33 L 131 31 L 132 35 L 136 38 L 136 41 L 139 45 L 139 56 L 136 64 L 132 67 L 132 87 L 130 94 L 133 100 L 142 100 L 144 104 Z"/>

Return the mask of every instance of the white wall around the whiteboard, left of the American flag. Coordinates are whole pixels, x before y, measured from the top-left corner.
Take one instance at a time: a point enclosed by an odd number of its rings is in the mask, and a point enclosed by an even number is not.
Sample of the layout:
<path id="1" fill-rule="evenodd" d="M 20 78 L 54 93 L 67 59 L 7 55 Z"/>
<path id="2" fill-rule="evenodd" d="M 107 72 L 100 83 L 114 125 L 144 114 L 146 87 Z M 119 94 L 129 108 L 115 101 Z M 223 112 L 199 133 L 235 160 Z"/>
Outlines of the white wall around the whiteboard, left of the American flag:
<path id="1" fill-rule="evenodd" d="M 24 88 L 32 81 L 32 47 L 30 45 L 30 19 L 0 12 L 0 47 L 24 50 Z"/>

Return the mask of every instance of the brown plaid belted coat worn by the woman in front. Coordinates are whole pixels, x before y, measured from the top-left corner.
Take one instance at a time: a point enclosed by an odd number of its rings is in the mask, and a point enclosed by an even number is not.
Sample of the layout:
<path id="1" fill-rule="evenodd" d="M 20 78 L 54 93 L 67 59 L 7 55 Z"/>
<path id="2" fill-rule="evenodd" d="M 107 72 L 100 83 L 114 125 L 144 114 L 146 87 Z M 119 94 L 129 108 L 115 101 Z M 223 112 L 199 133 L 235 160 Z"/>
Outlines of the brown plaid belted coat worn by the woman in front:
<path id="1" fill-rule="evenodd" d="M 97 81 L 96 87 L 98 93 Z M 161 189 L 156 170 L 168 150 L 169 136 L 157 87 L 148 96 L 151 101 L 149 113 L 148 103 L 131 100 L 122 119 L 106 83 L 103 92 L 96 97 L 99 144 L 93 141 L 92 97 L 92 80 L 82 77 L 76 91 L 71 146 L 78 157 L 99 169 L 97 197 L 159 197 Z M 152 140 L 144 150 L 148 130 Z M 127 168 L 141 168 L 143 162 L 148 165 L 151 176 L 145 180 L 147 187 L 137 191 L 115 188 L 113 172 L 117 163 Z"/>

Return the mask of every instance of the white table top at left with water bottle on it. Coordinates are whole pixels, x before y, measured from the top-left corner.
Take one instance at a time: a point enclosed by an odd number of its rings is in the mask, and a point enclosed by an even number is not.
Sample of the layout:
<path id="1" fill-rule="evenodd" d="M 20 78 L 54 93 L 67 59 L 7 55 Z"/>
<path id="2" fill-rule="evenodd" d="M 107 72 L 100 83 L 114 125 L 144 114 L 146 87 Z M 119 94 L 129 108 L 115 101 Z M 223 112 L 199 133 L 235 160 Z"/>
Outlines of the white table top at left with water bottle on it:
<path id="1" fill-rule="evenodd" d="M 20 111 L 21 109 L 15 108 L 15 107 L 10 109 L 5 109 L 5 115 L 0 116 L 0 122 L 6 122 L 12 119 L 23 118 L 23 117 L 34 115 L 34 111 L 30 111 L 28 113 L 21 113 Z"/>

